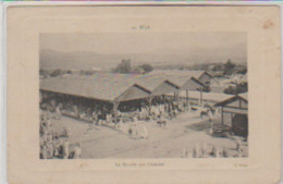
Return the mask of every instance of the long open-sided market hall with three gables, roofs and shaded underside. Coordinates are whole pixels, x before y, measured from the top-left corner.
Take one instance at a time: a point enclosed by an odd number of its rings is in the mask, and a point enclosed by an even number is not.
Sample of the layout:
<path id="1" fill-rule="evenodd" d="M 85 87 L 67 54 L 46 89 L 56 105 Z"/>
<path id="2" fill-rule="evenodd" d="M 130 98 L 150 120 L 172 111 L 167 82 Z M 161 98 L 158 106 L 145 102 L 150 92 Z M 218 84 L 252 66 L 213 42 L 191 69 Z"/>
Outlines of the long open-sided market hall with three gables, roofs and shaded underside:
<path id="1" fill-rule="evenodd" d="M 150 108 L 156 97 L 162 97 L 164 100 L 165 94 L 174 93 L 179 100 L 180 90 L 198 90 L 204 84 L 187 76 L 108 73 L 79 77 L 50 77 L 40 82 L 40 101 L 53 100 L 53 108 L 60 105 L 67 109 L 69 105 L 71 111 L 72 106 L 75 106 L 75 116 L 79 111 L 84 111 L 90 119 L 91 109 L 95 107 L 103 108 L 108 112 L 113 111 L 115 114 L 121 103 L 132 103 L 138 108 L 148 105 Z"/>

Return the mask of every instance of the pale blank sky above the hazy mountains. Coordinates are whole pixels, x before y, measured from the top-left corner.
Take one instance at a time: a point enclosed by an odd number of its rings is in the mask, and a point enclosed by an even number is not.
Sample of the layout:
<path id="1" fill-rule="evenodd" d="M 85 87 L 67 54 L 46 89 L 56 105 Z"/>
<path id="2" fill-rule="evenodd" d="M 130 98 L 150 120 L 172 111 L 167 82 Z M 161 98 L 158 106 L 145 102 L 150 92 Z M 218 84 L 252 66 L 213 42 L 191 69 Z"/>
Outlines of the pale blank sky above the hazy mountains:
<path id="1" fill-rule="evenodd" d="M 243 62 L 247 59 L 245 33 L 41 34 L 39 42 L 40 51 L 93 52 L 99 56 L 100 65 L 113 65 L 123 58 L 149 63 L 217 62 L 227 59 Z M 107 57 L 109 63 L 101 63 L 101 56 Z M 97 62 L 94 61 L 94 64 Z"/>

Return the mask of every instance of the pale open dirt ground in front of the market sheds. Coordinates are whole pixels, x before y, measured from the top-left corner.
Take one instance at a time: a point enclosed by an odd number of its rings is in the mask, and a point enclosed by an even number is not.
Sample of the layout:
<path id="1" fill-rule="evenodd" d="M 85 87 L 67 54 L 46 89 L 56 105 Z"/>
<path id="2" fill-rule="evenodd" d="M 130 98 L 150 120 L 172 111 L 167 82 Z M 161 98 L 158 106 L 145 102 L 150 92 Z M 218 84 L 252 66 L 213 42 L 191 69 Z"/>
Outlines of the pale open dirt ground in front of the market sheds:
<path id="1" fill-rule="evenodd" d="M 213 118 L 219 122 L 220 115 Z M 224 148 L 229 157 L 234 157 L 236 140 L 232 138 L 212 137 L 208 134 L 210 122 L 200 119 L 197 112 L 186 112 L 176 119 L 168 121 L 165 127 L 160 127 L 156 121 L 138 122 L 138 126 L 146 126 L 148 138 L 136 139 L 125 132 L 108 126 L 90 127 L 90 123 L 61 116 L 51 119 L 54 131 L 70 127 L 71 147 L 82 143 L 82 158 L 181 158 L 184 149 L 193 150 L 196 145 L 206 145 L 210 151 L 212 147 Z M 128 126 L 128 124 L 124 124 Z M 243 144 L 244 157 L 248 156 L 247 143 Z"/>

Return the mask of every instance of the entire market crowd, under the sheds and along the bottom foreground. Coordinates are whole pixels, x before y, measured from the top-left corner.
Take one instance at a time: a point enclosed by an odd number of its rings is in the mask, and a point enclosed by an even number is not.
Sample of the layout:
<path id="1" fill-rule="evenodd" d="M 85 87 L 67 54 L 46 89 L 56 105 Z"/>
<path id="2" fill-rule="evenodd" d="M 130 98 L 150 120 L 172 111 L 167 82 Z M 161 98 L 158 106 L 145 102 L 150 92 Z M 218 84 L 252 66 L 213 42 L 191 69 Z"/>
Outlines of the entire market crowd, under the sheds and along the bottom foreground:
<path id="1" fill-rule="evenodd" d="M 50 114 L 60 119 L 61 114 L 71 115 L 76 119 L 89 122 L 89 130 L 99 128 L 100 125 L 111 126 L 116 131 L 124 132 L 130 138 L 148 138 L 147 127 L 139 122 L 155 121 L 160 126 L 165 126 L 167 121 L 176 118 L 179 114 L 187 111 L 195 111 L 186 100 L 176 100 L 168 98 L 167 100 L 153 99 L 151 106 L 146 101 L 132 103 L 121 103 L 116 112 L 113 112 L 111 103 L 89 102 L 87 100 L 49 98 L 41 100 L 41 109 L 48 113 L 40 118 L 40 158 L 81 158 L 82 144 L 78 143 L 74 149 L 70 150 L 70 128 L 63 127 L 62 132 L 53 131 Z M 209 121 L 216 110 L 211 107 L 198 107 L 200 118 L 208 116 Z M 49 115 L 48 115 L 49 114 Z M 88 132 L 87 131 L 87 132 Z M 183 157 L 225 157 L 225 148 L 213 148 L 210 151 L 206 146 L 196 146 L 194 150 L 183 151 Z M 241 156 L 241 155 L 239 155 Z"/>

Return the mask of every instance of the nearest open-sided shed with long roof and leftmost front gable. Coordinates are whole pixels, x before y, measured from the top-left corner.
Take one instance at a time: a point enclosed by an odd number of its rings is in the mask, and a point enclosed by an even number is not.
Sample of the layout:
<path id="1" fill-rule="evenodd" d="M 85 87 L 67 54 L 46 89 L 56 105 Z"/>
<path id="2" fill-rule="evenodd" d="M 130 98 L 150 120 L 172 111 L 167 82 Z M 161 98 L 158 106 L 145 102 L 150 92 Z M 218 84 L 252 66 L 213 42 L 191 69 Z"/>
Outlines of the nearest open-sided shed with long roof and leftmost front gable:
<path id="1" fill-rule="evenodd" d="M 77 107 L 102 103 L 116 114 L 120 102 L 145 99 L 150 91 L 135 83 L 132 76 L 96 75 L 91 77 L 51 77 L 40 82 L 40 97 L 56 101 L 72 101 Z M 56 102 L 53 106 L 58 106 Z M 79 113 L 79 111 L 77 112 Z"/>

